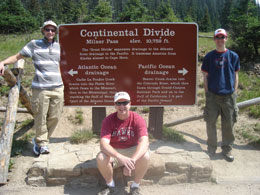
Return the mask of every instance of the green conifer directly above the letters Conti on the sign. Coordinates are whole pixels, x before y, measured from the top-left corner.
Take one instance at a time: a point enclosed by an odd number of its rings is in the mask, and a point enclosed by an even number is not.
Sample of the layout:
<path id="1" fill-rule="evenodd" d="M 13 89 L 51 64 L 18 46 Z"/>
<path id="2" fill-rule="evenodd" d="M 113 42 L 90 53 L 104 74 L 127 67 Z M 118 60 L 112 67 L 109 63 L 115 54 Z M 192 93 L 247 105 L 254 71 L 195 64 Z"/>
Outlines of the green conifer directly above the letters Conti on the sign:
<path id="1" fill-rule="evenodd" d="M 112 6 L 107 0 L 99 0 L 90 15 L 90 22 L 112 22 Z"/>

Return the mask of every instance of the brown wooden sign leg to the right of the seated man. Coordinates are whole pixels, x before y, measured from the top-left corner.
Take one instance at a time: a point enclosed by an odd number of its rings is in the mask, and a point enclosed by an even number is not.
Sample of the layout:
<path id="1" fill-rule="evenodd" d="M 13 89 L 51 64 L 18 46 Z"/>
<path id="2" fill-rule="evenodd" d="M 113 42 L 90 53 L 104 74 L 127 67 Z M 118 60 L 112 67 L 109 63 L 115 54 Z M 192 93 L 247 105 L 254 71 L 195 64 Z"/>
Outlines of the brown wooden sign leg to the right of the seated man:
<path id="1" fill-rule="evenodd" d="M 154 138 L 162 138 L 163 129 L 163 107 L 150 107 L 148 130 Z"/>

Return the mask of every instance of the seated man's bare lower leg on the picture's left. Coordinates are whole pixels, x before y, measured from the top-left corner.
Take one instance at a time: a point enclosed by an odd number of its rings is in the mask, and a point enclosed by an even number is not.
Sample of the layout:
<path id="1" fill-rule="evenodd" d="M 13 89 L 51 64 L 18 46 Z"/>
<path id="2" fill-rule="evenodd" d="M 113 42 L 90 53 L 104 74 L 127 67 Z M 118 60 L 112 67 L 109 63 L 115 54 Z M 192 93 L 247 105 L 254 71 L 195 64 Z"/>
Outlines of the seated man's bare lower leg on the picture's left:
<path id="1" fill-rule="evenodd" d="M 113 167 L 110 162 L 110 157 L 100 152 L 97 155 L 97 166 L 98 170 L 106 180 L 106 183 L 110 183 L 113 180 Z"/>

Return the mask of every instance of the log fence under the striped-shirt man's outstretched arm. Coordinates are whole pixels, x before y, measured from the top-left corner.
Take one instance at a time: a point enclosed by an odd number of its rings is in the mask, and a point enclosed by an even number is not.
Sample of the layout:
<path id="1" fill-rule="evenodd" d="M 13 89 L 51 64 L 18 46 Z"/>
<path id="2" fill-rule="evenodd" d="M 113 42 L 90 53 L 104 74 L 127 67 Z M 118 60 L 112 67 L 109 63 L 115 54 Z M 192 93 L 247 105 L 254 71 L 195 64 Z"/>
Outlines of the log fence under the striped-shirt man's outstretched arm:
<path id="1" fill-rule="evenodd" d="M 8 103 L 0 137 L 0 184 L 5 184 L 8 179 L 8 168 L 19 98 L 21 103 L 27 108 L 27 111 L 32 114 L 29 96 L 21 86 L 23 65 L 24 60 L 21 59 L 14 65 L 12 71 L 6 69 L 3 76 L 8 85 L 11 86 L 11 89 L 8 95 Z"/>

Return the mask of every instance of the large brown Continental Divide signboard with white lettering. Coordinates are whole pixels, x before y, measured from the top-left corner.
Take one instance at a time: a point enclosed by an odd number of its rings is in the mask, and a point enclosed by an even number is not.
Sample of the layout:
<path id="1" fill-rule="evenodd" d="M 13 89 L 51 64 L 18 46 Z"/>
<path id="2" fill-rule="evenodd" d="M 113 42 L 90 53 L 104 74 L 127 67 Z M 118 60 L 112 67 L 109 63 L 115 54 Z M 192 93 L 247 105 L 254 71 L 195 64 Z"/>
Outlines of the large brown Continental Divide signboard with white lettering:
<path id="1" fill-rule="evenodd" d="M 60 25 L 65 105 L 111 106 L 127 91 L 132 105 L 193 105 L 197 25 Z"/>

